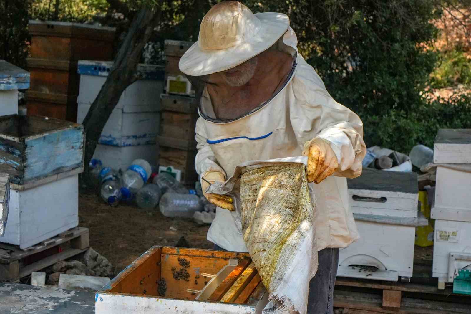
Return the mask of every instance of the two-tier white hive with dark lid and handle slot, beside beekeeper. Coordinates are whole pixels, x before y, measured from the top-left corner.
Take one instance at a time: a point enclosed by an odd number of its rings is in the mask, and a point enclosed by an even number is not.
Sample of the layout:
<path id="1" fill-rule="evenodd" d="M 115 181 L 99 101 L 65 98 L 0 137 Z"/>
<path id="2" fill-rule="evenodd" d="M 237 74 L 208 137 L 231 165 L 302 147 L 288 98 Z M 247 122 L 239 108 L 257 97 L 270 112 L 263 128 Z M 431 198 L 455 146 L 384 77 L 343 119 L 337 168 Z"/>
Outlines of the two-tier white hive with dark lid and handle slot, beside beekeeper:
<path id="1" fill-rule="evenodd" d="M 360 177 L 348 180 L 348 187 L 361 238 L 340 250 L 337 275 L 407 281 L 413 271 L 415 227 L 427 223 L 417 218 L 417 175 L 363 169 Z"/>

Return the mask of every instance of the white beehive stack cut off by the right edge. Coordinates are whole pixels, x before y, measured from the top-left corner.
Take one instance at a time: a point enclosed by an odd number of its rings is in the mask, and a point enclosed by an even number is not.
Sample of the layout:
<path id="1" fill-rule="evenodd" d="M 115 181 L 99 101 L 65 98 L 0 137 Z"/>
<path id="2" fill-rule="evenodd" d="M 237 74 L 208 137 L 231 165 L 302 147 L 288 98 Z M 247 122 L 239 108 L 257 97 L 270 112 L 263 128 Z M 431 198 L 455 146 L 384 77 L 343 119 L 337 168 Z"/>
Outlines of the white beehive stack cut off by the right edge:
<path id="1" fill-rule="evenodd" d="M 471 264 L 471 129 L 440 129 L 433 162 L 433 277 L 439 279 L 439 289 L 453 282 L 455 293 L 471 294 L 471 278 L 463 272 Z"/>

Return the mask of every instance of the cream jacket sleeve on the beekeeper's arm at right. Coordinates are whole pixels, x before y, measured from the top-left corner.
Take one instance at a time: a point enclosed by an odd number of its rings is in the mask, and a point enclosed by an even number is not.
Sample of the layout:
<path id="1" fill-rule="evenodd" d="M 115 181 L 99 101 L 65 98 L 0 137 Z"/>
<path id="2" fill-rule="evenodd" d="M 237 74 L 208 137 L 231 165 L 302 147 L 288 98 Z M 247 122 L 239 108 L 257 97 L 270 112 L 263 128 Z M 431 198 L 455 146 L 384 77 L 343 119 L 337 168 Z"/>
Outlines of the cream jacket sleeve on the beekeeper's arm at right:
<path id="1" fill-rule="evenodd" d="M 298 144 L 302 149 L 315 137 L 327 140 L 339 162 L 334 175 L 359 176 L 366 154 L 362 121 L 329 95 L 319 75 L 302 57 L 298 66 L 292 80 L 294 101 L 290 103 L 291 124 Z"/>

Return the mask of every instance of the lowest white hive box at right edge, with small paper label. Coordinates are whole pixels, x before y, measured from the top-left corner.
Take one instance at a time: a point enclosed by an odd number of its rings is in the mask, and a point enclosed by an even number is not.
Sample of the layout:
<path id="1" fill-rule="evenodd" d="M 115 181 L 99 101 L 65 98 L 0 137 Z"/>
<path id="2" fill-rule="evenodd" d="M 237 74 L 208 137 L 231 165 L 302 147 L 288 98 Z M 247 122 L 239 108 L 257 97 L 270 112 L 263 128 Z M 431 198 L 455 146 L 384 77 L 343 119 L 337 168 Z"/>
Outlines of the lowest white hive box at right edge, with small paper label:
<path id="1" fill-rule="evenodd" d="M 450 253 L 469 256 L 450 264 Z M 452 258 L 453 260 L 453 258 Z M 432 275 L 439 282 L 453 282 L 449 276 L 450 266 L 455 269 L 471 267 L 471 223 L 451 220 L 435 220 L 435 239 L 433 243 Z"/>

